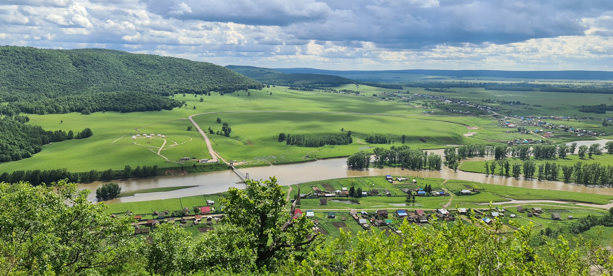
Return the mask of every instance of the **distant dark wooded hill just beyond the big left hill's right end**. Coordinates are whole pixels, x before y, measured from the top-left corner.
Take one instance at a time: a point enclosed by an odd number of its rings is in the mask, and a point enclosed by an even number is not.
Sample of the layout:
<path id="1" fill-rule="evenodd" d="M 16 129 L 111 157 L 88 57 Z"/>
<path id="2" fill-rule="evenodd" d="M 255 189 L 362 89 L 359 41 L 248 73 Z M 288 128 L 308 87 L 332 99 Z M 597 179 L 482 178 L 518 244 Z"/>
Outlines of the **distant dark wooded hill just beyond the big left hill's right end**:
<path id="1" fill-rule="evenodd" d="M 267 83 L 271 85 L 284 85 L 284 86 L 339 86 L 347 83 L 356 83 L 355 80 L 350 80 L 344 77 L 338 77 L 335 75 L 322 75 L 322 74 L 286 74 L 274 69 L 254 67 L 254 66 L 238 66 L 228 65 L 228 69 L 232 69 L 235 72 L 246 75 L 251 79 L 258 82 Z"/>

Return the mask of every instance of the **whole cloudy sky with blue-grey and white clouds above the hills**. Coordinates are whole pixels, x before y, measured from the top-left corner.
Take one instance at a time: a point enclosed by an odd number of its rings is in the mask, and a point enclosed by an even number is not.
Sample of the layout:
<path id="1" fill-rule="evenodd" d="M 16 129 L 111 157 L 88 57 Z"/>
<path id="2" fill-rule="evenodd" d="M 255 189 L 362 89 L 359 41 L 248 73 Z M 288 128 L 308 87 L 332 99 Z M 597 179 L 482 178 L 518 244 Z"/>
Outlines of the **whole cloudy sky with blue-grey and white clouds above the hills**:
<path id="1" fill-rule="evenodd" d="M 0 0 L 0 45 L 227 65 L 613 71 L 611 0 Z"/>

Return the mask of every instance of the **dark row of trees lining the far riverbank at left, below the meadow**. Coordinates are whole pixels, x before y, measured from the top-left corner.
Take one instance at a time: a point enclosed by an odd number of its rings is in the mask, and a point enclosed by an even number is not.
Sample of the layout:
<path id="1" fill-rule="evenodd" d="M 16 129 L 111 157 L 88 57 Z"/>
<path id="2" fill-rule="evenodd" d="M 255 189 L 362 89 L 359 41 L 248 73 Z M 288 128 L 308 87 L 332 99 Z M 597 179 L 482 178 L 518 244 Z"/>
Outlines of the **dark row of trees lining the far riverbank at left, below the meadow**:
<path id="1" fill-rule="evenodd" d="M 42 183 L 48 184 L 66 178 L 70 182 L 82 183 L 128 177 L 151 177 L 156 175 L 158 175 L 158 165 L 153 167 L 138 166 L 136 169 L 126 166 L 121 171 L 113 171 L 112 169 L 108 169 L 102 172 L 96 170 L 91 170 L 89 172 L 69 172 L 67 169 L 53 169 L 43 171 L 14 171 L 10 174 L 8 172 L 4 172 L 0 175 L 0 182 L 17 183 L 21 180 L 25 180 L 32 185 L 37 186 Z"/>

